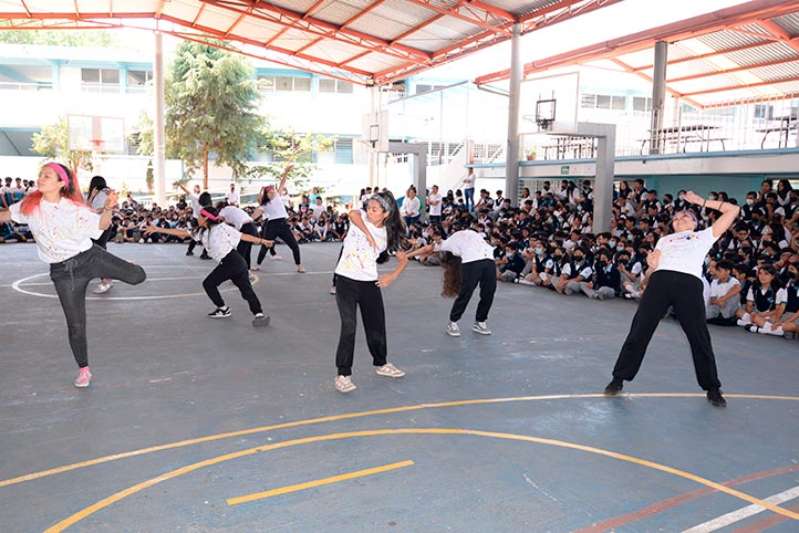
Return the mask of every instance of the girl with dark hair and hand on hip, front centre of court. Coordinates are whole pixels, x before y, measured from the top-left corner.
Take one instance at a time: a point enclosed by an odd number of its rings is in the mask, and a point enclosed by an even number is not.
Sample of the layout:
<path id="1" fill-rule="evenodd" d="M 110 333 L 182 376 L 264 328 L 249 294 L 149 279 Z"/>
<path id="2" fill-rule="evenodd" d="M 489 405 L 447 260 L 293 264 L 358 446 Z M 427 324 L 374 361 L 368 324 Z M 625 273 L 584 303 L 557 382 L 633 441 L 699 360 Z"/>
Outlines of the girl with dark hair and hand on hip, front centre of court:
<path id="1" fill-rule="evenodd" d="M 355 352 L 355 310 L 359 306 L 377 374 L 387 377 L 405 375 L 386 362 L 385 310 L 381 293 L 381 288 L 391 285 L 408 263 L 407 257 L 400 250 L 406 234 L 400 209 L 391 192 L 377 192 L 370 197 L 365 212 L 360 209 L 350 211 L 350 222 L 341 259 L 335 266 L 335 303 L 341 315 L 335 388 L 341 393 L 355 390 L 350 376 Z M 377 275 L 377 264 L 386 262 L 390 252 L 396 252 L 397 268 L 390 274 Z"/>

